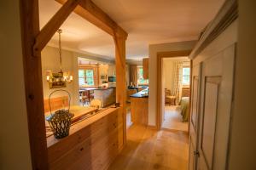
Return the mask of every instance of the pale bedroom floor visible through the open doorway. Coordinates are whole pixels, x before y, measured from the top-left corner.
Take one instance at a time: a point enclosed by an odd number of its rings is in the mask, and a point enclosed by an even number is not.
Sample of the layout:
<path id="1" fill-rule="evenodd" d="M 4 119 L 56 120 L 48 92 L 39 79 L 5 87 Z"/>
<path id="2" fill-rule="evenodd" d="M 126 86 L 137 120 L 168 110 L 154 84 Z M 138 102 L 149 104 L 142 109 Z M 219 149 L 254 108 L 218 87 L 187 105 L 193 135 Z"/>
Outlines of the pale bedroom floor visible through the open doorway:
<path id="1" fill-rule="evenodd" d="M 183 117 L 180 111 L 177 111 L 177 106 L 165 106 L 165 121 L 162 128 L 188 132 L 189 122 L 183 122 Z"/>

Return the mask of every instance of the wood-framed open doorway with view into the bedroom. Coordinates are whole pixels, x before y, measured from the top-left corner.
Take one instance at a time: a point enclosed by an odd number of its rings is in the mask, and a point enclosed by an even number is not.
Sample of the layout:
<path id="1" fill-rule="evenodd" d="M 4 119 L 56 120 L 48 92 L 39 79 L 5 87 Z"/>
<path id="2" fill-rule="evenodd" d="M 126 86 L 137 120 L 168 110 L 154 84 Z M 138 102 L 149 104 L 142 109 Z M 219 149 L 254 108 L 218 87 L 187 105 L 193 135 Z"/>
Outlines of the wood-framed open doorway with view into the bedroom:
<path id="1" fill-rule="evenodd" d="M 190 51 L 158 53 L 157 127 L 189 132 Z"/>

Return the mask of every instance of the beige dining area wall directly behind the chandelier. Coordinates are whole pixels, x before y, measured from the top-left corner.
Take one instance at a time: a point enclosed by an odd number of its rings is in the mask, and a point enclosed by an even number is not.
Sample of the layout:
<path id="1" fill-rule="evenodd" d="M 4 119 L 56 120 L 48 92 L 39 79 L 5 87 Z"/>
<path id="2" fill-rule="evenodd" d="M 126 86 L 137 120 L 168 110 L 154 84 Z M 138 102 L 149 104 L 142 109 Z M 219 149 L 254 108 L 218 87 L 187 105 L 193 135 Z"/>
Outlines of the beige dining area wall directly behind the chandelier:
<path id="1" fill-rule="evenodd" d="M 71 51 L 62 50 L 62 71 L 70 71 L 73 75 L 73 82 L 67 83 L 66 88 L 49 89 L 49 83 L 46 81 L 47 71 L 60 71 L 59 49 L 46 46 L 42 53 L 42 75 L 44 99 L 49 98 L 49 94 L 56 89 L 67 90 L 71 94 L 71 105 L 79 104 L 79 82 L 78 82 L 78 57 Z M 63 92 L 53 94 L 52 98 L 67 95 Z"/>

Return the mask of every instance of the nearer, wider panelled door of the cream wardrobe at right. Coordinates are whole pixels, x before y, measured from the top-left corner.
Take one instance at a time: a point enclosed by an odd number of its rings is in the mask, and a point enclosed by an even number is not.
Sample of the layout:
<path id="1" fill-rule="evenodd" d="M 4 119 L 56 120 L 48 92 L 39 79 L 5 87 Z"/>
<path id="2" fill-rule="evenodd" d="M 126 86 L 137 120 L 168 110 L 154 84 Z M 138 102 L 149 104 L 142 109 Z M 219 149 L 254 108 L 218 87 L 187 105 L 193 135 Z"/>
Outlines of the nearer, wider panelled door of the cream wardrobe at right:
<path id="1" fill-rule="evenodd" d="M 226 168 L 234 58 L 235 45 L 232 45 L 202 61 L 199 152 L 195 169 Z"/>

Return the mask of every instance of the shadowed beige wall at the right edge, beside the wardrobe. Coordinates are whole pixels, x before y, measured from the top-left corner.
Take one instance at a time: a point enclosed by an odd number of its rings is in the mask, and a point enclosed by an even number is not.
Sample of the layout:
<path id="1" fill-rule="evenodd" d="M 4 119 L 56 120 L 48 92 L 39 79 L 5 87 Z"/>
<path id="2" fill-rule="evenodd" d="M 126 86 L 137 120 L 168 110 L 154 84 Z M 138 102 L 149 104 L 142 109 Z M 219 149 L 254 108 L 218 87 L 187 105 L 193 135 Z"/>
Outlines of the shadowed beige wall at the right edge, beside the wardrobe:
<path id="1" fill-rule="evenodd" d="M 256 169 L 256 2 L 239 0 L 230 170 Z"/>

